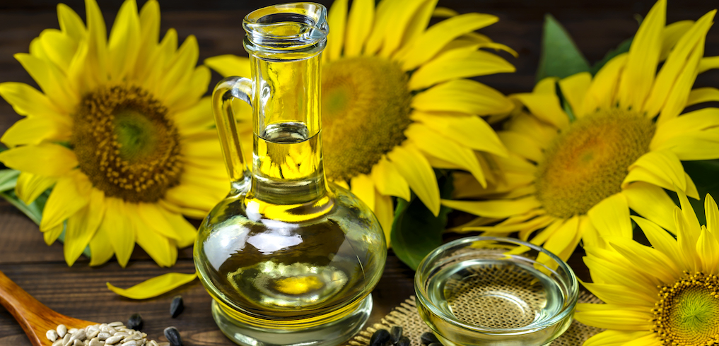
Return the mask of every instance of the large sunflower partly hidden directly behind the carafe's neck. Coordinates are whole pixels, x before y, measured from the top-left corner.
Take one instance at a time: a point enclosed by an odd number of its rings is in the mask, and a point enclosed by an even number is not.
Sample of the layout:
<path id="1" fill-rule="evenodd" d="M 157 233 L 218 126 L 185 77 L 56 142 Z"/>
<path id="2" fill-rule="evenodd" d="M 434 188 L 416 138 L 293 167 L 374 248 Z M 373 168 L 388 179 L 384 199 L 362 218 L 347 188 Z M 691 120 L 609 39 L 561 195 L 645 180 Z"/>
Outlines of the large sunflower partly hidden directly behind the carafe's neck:
<path id="1" fill-rule="evenodd" d="M 337 0 L 329 11 L 321 80 L 326 176 L 372 208 L 388 239 L 390 196 L 409 200 L 413 191 L 437 215 L 433 167 L 464 169 L 485 184 L 473 150 L 506 154 L 480 116 L 509 113 L 513 104 L 465 79 L 515 70 L 481 48 L 513 51 L 475 33 L 498 18 L 439 9 L 449 18 L 428 28 L 435 6 L 436 0 L 382 0 L 375 9 L 373 0 L 355 0 L 348 13 L 347 0 Z M 205 63 L 224 76 L 249 76 L 247 58 Z M 239 126 L 245 143 L 251 124 Z"/>

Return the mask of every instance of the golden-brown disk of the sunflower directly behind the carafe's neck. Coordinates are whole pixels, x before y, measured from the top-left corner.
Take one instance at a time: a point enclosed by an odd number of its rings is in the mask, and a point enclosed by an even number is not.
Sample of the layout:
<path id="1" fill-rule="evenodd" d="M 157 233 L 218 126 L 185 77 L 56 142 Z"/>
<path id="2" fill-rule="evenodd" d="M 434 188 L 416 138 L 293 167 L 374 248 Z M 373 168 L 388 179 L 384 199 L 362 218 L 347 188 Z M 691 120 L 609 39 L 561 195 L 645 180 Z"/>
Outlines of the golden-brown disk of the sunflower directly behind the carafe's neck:
<path id="1" fill-rule="evenodd" d="M 411 94 L 400 66 L 381 57 L 352 57 L 322 70 L 322 142 L 330 179 L 368 174 L 406 139 Z"/>

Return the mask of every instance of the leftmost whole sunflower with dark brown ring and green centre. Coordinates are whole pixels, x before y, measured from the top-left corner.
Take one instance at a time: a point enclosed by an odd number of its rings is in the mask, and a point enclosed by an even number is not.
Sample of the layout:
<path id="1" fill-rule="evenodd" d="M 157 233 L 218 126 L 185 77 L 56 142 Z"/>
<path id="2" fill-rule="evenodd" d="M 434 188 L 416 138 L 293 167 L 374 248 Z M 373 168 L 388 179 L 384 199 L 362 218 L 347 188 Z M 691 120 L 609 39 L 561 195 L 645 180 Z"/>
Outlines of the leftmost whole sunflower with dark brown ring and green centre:
<path id="1" fill-rule="evenodd" d="M 87 26 L 58 5 L 60 29 L 46 29 L 15 55 L 40 85 L 1 83 L 0 95 L 26 118 L 2 136 L 0 161 L 22 173 L 19 198 L 52 187 L 40 230 L 49 245 L 65 230 L 65 261 L 89 245 L 91 266 L 113 256 L 125 266 L 137 241 L 160 266 L 228 190 L 198 45 L 168 30 L 160 6 L 127 0 L 109 40 L 101 11 L 86 0 Z"/>

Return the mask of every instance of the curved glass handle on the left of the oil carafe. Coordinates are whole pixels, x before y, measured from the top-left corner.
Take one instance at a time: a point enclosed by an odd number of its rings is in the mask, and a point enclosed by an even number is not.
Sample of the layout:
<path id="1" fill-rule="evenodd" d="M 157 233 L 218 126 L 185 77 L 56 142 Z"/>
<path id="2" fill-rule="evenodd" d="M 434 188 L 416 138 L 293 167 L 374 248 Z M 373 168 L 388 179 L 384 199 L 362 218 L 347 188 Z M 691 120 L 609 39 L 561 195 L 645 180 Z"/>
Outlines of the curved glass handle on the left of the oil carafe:
<path id="1" fill-rule="evenodd" d="M 247 163 L 244 162 L 244 156 L 242 156 L 242 146 L 239 143 L 232 101 L 239 98 L 252 107 L 252 99 L 249 95 L 252 95 L 252 80 L 242 77 L 225 78 L 217 83 L 212 92 L 212 113 L 214 113 L 217 124 L 222 155 L 225 159 L 229 179 L 232 180 L 235 188 L 244 187 L 244 184 L 249 182 L 249 174 L 247 173 Z"/>

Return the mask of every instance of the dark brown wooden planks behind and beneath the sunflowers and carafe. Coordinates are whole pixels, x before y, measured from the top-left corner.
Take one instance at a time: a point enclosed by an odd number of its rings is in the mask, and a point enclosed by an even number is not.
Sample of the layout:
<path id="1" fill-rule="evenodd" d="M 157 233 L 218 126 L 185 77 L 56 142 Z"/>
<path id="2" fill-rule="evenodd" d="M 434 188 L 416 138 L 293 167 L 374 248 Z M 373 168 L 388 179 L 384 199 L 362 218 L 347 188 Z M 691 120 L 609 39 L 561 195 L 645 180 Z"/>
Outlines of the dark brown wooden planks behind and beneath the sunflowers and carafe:
<path id="1" fill-rule="evenodd" d="M 140 5 L 144 1 L 139 1 Z M 248 4 L 248 2 L 252 2 Z M 320 1 L 324 4 L 329 2 Z M 531 90 L 534 72 L 539 61 L 541 24 L 545 13 L 554 14 L 572 34 L 590 62 L 600 60 L 605 52 L 636 32 L 634 14 L 646 15 L 654 1 L 440 1 L 441 6 L 459 12 L 480 11 L 495 14 L 500 22 L 482 33 L 497 42 L 513 47 L 520 57 L 507 57 L 516 65 L 513 74 L 480 78 L 503 93 Z M 80 0 L 65 1 L 83 13 Z M 114 19 L 120 0 L 100 1 L 106 20 Z M 162 32 L 174 27 L 180 39 L 195 34 L 200 45 L 201 60 L 220 54 L 244 55 L 241 45 L 243 32 L 239 21 L 250 9 L 271 4 L 271 1 L 176 0 L 162 1 Z M 601 4 L 600 4 L 601 3 Z M 668 22 L 698 19 L 717 6 L 715 1 L 669 1 Z M 29 42 L 42 29 L 58 27 L 55 0 L 0 1 L 0 82 L 16 81 L 34 84 L 12 55 L 27 52 Z M 706 55 L 719 55 L 719 28 L 711 29 L 707 37 Z M 212 85 L 219 80 L 214 75 Z M 719 72 L 700 76 L 697 86 L 719 86 Z M 0 100 L 0 133 L 6 131 L 18 116 L 4 100 Z M 454 221 L 460 218 L 456 214 Z M 582 253 L 572 256 L 569 263 L 580 278 L 588 279 L 581 261 Z M 72 268 L 63 261 L 60 243 L 45 246 L 42 233 L 22 213 L 6 202 L 0 202 L 0 271 L 19 286 L 56 311 L 80 319 L 97 322 L 126 321 L 139 312 L 145 319 L 147 334 L 164 340 L 162 329 L 173 325 L 180 329 L 185 345 L 233 345 L 217 329 L 210 316 L 210 297 L 198 281 L 175 289 L 155 299 L 134 301 L 124 299 L 106 289 L 106 281 L 128 287 L 168 271 L 192 273 L 192 250 L 180 251 L 174 268 L 159 268 L 139 247 L 127 268 L 111 261 L 104 266 L 90 268 L 87 258 L 81 257 Z M 370 322 L 375 322 L 413 294 L 413 271 L 390 252 L 383 278 L 373 297 L 375 309 Z M 176 294 L 185 300 L 186 309 L 176 319 L 169 314 L 170 301 Z M 0 345 L 29 345 L 22 329 L 5 309 L 0 308 Z"/>

